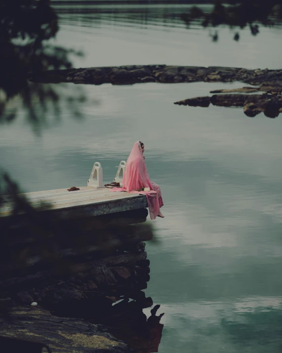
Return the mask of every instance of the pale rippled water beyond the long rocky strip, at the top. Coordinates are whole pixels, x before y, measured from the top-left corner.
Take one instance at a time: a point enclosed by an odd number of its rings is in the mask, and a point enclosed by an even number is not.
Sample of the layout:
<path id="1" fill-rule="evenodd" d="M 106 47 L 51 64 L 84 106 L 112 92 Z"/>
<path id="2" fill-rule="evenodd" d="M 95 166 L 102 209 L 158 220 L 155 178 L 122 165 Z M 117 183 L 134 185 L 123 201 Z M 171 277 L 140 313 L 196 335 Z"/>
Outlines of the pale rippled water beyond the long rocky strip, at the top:
<path id="1" fill-rule="evenodd" d="M 83 50 L 84 58 L 73 58 L 74 67 L 119 65 L 191 65 L 244 68 L 280 68 L 280 22 L 261 27 L 253 37 L 240 30 L 234 42 L 227 25 L 220 25 L 220 45 L 211 40 L 213 30 L 194 19 L 189 28 L 181 19 L 192 5 L 185 4 L 70 4 L 54 2 L 60 31 L 55 44 L 68 42 Z M 201 5 L 204 13 L 212 4 Z M 87 13 L 86 13 L 87 12 Z M 71 33 L 71 35 L 70 35 Z M 271 52 L 271 57 L 261 53 Z M 186 97 L 183 97 L 186 98 Z"/>

